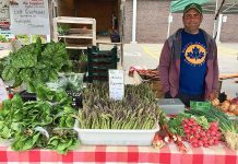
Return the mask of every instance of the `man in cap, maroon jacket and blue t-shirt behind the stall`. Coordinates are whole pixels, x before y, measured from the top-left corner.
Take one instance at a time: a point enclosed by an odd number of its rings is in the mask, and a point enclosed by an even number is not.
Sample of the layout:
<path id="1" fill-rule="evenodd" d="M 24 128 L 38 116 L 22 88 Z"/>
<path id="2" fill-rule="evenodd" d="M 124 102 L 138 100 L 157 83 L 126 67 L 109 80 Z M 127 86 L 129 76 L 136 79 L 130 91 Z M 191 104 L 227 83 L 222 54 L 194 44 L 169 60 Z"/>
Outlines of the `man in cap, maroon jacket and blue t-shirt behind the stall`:
<path id="1" fill-rule="evenodd" d="M 190 3 L 183 10 L 185 27 L 164 44 L 159 59 L 159 75 L 165 98 L 190 101 L 214 99 L 218 90 L 217 47 L 203 30 L 202 8 Z"/>

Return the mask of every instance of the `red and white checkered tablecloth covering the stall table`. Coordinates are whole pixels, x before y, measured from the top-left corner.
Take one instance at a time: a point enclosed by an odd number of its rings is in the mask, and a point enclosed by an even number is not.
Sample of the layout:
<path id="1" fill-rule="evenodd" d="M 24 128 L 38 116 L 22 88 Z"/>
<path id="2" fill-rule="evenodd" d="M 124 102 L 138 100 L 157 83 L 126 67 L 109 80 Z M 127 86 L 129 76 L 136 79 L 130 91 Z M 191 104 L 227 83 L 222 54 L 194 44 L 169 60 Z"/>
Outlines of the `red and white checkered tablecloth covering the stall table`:
<path id="1" fill-rule="evenodd" d="M 163 163 L 163 164 L 238 164 L 238 151 L 224 144 L 210 148 L 189 148 L 187 154 L 177 151 L 174 143 L 156 150 L 152 147 L 81 145 L 67 155 L 50 150 L 12 151 L 0 143 L 0 163 Z"/>

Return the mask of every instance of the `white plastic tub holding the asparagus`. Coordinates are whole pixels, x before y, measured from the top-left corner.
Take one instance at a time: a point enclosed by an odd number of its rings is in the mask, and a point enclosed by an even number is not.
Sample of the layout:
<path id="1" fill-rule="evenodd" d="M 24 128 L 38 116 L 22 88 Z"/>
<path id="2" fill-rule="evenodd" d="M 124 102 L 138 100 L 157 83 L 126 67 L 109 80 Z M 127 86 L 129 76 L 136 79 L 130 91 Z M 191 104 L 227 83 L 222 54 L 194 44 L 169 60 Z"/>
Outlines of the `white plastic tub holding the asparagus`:
<path id="1" fill-rule="evenodd" d="M 102 145 L 151 145 L 156 129 L 80 129 L 74 127 L 82 144 Z"/>

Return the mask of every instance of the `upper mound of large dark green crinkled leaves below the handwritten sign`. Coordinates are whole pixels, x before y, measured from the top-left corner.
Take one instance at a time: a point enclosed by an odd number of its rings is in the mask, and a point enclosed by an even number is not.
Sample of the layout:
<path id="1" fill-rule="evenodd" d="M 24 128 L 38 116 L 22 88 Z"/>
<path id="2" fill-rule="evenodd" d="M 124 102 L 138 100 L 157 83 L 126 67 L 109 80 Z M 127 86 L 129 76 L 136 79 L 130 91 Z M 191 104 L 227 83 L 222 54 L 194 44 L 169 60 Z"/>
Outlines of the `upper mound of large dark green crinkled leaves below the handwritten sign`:
<path id="1" fill-rule="evenodd" d="M 36 43 L 22 47 L 1 60 L 4 81 L 12 81 L 13 86 L 26 85 L 28 92 L 35 92 L 38 84 L 55 81 L 58 72 L 69 63 L 66 45 L 48 43 L 43 45 L 40 38 Z"/>

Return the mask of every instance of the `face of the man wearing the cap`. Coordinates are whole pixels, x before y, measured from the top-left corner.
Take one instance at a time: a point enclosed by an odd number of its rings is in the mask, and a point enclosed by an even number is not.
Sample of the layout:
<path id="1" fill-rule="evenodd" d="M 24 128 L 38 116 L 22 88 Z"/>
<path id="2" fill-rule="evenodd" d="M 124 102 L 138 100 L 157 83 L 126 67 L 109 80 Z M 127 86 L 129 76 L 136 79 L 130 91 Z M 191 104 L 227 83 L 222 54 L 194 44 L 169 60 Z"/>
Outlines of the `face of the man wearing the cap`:
<path id="1" fill-rule="evenodd" d="M 202 14 L 195 9 L 188 10 L 182 17 L 185 28 L 190 33 L 197 33 L 202 23 Z"/>

